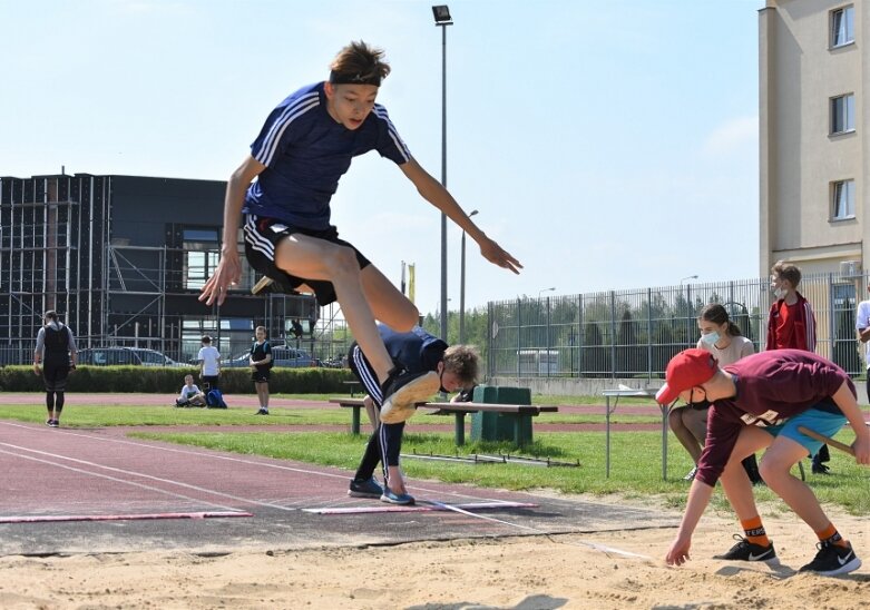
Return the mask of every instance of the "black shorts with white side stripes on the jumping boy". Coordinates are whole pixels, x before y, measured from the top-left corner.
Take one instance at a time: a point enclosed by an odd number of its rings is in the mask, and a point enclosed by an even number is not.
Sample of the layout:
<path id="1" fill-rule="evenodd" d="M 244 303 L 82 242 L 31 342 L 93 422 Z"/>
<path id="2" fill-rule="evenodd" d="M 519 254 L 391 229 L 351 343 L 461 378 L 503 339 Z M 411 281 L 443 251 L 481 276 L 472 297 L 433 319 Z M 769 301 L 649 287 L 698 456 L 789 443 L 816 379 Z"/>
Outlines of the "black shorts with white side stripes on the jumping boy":
<path id="1" fill-rule="evenodd" d="M 305 279 L 304 277 L 296 277 L 280 269 L 275 265 L 275 248 L 278 245 L 278 242 L 294 233 L 307 235 L 309 237 L 316 237 L 317 239 L 348 246 L 353 249 L 356 255 L 356 262 L 360 264 L 360 269 L 364 269 L 371 265 L 371 262 L 365 258 L 353 244 L 339 238 L 339 232 L 335 227 L 330 227 L 326 230 L 312 230 L 294 227 L 282 220 L 276 220 L 275 218 L 261 218 L 253 214 L 246 214 L 244 230 L 245 256 L 254 269 L 266 277 L 272 278 L 284 292 L 294 291 L 300 285 L 305 284 L 314 291 L 314 295 L 317 297 L 317 305 L 321 306 L 334 303 L 336 299 L 335 288 L 333 287 L 332 282 Z"/>

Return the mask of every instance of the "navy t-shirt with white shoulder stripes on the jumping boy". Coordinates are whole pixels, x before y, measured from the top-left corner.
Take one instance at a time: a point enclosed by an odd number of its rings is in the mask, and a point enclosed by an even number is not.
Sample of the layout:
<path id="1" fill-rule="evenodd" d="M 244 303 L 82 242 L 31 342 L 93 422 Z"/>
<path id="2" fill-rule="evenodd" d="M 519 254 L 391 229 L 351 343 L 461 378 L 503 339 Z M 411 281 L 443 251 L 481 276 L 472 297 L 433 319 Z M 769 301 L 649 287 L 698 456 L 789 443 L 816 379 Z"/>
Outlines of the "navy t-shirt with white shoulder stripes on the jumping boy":
<path id="1" fill-rule="evenodd" d="M 266 119 L 251 145 L 266 169 L 247 189 L 242 211 L 325 230 L 330 199 L 353 157 L 378 150 L 398 165 L 411 159 L 383 106 L 375 104 L 358 129 L 348 129 L 326 110 L 323 85 L 292 94 Z"/>

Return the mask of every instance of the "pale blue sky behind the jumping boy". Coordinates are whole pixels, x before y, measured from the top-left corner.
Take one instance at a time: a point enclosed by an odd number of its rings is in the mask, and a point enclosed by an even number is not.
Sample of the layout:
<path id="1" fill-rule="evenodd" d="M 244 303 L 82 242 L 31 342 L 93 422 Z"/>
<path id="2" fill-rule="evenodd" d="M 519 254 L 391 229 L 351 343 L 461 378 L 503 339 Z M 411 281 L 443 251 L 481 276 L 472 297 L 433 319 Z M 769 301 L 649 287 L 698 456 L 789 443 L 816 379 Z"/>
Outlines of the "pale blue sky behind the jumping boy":
<path id="1" fill-rule="evenodd" d="M 0 0 L 0 176 L 226 180 L 268 112 L 361 39 L 392 67 L 378 101 L 440 179 L 431 6 Z M 525 267 L 496 267 L 468 239 L 468 308 L 759 277 L 763 0 L 448 6 L 447 186 Z M 397 285 L 413 264 L 418 307 L 439 308 L 440 213 L 392 161 L 358 157 L 332 220 Z M 460 244 L 450 224 L 449 309 Z"/>

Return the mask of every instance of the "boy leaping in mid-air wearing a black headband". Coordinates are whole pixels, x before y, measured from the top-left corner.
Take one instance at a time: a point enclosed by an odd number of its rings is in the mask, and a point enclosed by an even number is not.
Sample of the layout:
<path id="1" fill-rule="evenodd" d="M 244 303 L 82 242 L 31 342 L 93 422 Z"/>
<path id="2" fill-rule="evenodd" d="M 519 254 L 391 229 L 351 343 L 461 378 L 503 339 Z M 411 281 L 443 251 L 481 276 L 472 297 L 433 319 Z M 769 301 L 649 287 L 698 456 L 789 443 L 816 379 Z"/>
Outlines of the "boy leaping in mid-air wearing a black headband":
<path id="1" fill-rule="evenodd" d="M 420 167 L 387 109 L 375 104 L 381 81 L 390 72 L 383 52 L 352 42 L 330 68 L 328 81 L 303 87 L 272 111 L 251 155 L 231 176 L 221 260 L 199 299 L 221 304 L 238 282 L 236 236 L 244 216 L 245 255 L 257 272 L 285 291 L 304 286 L 321 306 L 339 302 L 380 384 L 385 414 L 393 403 L 413 404 L 440 384 L 432 372 L 410 374 L 394 366 L 374 321 L 408 332 L 419 312 L 330 224 L 330 199 L 353 157 L 377 150 L 399 166 L 426 200 L 475 239 L 485 258 L 514 273 L 521 265 Z"/>

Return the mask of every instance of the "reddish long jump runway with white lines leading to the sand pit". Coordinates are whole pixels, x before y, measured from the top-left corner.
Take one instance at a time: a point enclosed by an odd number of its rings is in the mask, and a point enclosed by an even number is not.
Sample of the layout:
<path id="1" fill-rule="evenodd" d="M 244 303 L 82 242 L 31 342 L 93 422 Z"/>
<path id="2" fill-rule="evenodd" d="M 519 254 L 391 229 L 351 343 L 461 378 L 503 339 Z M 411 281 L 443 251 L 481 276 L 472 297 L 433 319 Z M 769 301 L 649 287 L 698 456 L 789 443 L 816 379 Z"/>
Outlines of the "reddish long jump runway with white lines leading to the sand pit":
<path id="1" fill-rule="evenodd" d="M 349 498 L 350 476 L 110 429 L 0 421 L 0 555 L 225 553 L 678 524 L 654 510 L 414 481 L 419 506 L 405 510 Z"/>

